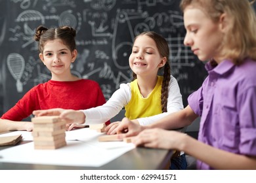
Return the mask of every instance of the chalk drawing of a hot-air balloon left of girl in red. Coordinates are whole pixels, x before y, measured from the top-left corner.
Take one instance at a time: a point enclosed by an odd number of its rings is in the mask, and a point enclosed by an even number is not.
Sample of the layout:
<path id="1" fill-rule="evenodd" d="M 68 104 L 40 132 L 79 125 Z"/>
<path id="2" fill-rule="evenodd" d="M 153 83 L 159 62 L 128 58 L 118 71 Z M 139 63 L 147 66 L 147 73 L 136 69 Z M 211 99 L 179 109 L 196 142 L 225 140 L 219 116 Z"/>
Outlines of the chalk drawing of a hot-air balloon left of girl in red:
<path id="1" fill-rule="evenodd" d="M 12 75 L 12 77 L 16 80 L 16 88 L 18 92 L 23 91 L 22 82 L 20 82 L 20 78 L 25 69 L 25 61 L 24 58 L 20 54 L 12 53 L 7 57 L 7 66 Z"/>

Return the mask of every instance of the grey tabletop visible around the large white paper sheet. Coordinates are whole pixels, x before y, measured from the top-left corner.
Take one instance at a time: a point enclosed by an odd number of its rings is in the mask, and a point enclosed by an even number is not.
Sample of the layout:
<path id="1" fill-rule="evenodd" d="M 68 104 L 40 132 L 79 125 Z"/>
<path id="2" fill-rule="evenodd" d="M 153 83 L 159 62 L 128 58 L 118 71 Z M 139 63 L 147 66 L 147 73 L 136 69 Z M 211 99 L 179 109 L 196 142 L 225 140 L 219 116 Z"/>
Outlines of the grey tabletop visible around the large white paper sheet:
<path id="1" fill-rule="evenodd" d="M 20 141 L 18 144 L 25 144 L 31 141 Z M 11 146 L 0 146 L 0 150 L 9 148 Z M 4 163 L 0 162 L 0 169 L 2 170 L 153 170 L 153 169 L 166 169 L 169 165 L 172 150 L 154 149 L 138 147 L 122 156 L 110 161 L 101 167 L 75 167 L 75 166 L 60 166 L 60 165 L 39 165 L 39 164 L 25 164 L 25 163 Z M 17 152 L 18 156 L 18 152 Z"/>

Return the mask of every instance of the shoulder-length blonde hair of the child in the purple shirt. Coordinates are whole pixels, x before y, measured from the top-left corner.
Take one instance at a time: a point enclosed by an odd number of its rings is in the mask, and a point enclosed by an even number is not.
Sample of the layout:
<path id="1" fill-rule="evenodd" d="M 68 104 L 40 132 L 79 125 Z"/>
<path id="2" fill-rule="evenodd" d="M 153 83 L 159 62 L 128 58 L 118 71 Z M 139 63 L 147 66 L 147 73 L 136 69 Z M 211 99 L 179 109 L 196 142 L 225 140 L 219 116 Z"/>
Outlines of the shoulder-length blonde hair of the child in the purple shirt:
<path id="1" fill-rule="evenodd" d="M 230 18 L 230 27 L 223 41 L 224 58 L 236 65 L 245 58 L 256 60 L 256 17 L 249 0 L 182 0 L 182 11 L 188 6 L 201 8 L 213 22 L 222 14 Z"/>

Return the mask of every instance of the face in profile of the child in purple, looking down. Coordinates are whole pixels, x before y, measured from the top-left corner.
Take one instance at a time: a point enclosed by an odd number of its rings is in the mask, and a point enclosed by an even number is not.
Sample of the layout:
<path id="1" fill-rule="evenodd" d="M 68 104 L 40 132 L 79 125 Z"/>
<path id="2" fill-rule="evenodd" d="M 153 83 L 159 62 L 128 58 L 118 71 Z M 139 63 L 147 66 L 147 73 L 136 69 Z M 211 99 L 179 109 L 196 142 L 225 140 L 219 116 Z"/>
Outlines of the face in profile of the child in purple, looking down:
<path id="1" fill-rule="evenodd" d="M 214 58 L 219 63 L 223 41 L 222 22 L 213 22 L 202 9 L 189 5 L 184 10 L 184 25 L 184 44 L 190 46 L 201 61 Z"/>

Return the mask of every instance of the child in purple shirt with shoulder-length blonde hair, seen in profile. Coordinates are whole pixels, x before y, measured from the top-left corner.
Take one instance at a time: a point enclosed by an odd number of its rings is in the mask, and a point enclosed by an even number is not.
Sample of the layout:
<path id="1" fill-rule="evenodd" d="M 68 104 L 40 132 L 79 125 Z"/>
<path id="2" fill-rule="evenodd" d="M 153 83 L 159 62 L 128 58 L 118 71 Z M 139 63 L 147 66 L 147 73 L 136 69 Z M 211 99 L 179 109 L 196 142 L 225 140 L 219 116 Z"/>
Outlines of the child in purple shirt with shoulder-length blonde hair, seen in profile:
<path id="1" fill-rule="evenodd" d="M 184 44 L 209 60 L 209 76 L 184 110 L 148 126 L 125 118 L 117 133 L 128 132 L 119 138 L 139 133 L 133 138 L 137 146 L 184 151 L 198 159 L 198 169 L 256 169 L 255 12 L 246 0 L 182 0 L 181 8 Z M 198 141 L 165 130 L 190 125 L 198 116 Z"/>

